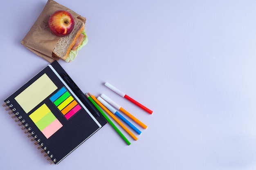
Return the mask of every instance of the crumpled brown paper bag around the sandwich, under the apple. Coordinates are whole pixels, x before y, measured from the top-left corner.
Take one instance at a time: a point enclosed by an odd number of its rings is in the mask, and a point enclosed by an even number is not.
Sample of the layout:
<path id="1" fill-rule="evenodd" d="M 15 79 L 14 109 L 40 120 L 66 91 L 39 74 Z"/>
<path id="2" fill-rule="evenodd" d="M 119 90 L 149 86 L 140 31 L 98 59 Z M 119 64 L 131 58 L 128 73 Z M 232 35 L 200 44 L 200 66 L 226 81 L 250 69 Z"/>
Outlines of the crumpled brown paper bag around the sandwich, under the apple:
<path id="1" fill-rule="evenodd" d="M 54 0 L 48 0 L 36 22 L 21 41 L 21 44 L 27 47 L 27 49 L 50 63 L 54 62 L 54 60 L 58 60 L 58 58 L 52 57 L 52 51 L 54 49 L 54 45 L 60 39 L 60 37 L 57 37 L 51 33 L 48 26 L 48 20 L 49 17 L 58 10 L 67 10 L 74 18 L 77 17 L 85 23 L 86 18 L 75 13 L 71 9 L 68 9 L 67 7 L 64 7 L 63 5 L 58 4 Z"/>

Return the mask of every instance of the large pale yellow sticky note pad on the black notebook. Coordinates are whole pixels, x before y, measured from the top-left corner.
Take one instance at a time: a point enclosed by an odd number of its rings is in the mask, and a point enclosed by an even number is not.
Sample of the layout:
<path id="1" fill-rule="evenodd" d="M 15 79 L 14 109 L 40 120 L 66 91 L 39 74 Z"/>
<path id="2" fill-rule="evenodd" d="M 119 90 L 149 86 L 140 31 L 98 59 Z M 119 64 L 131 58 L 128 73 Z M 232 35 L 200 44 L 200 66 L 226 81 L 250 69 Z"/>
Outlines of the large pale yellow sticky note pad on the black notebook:
<path id="1" fill-rule="evenodd" d="M 56 89 L 57 86 L 45 73 L 14 99 L 22 107 L 25 113 L 29 113 L 29 111 L 51 95 Z"/>

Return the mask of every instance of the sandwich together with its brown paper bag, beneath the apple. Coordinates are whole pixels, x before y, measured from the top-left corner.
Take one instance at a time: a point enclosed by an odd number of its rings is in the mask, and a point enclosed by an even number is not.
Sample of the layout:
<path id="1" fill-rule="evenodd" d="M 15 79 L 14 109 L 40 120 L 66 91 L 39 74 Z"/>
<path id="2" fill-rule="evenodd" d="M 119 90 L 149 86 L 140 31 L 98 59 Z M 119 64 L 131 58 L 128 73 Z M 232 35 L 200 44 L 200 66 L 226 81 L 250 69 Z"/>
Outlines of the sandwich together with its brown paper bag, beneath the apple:
<path id="1" fill-rule="evenodd" d="M 54 35 L 48 25 L 49 17 L 58 10 L 68 11 L 74 19 L 74 28 L 69 35 L 64 37 Z M 50 63 L 59 59 L 71 62 L 88 42 L 85 21 L 85 17 L 71 9 L 54 0 L 47 0 L 43 11 L 22 39 L 21 44 Z"/>

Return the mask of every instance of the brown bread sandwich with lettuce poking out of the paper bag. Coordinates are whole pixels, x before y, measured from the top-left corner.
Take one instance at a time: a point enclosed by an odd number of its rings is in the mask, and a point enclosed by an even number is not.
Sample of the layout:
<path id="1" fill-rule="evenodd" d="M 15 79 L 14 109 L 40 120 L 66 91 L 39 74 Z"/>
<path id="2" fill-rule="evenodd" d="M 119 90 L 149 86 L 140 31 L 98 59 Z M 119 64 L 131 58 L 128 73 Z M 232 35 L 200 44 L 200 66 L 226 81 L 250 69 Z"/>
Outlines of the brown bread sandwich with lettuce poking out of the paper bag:
<path id="1" fill-rule="evenodd" d="M 85 24 L 78 18 L 74 18 L 74 29 L 64 37 L 61 37 L 54 45 L 52 57 L 60 58 L 65 62 L 74 61 L 78 51 L 88 42 L 85 33 Z"/>

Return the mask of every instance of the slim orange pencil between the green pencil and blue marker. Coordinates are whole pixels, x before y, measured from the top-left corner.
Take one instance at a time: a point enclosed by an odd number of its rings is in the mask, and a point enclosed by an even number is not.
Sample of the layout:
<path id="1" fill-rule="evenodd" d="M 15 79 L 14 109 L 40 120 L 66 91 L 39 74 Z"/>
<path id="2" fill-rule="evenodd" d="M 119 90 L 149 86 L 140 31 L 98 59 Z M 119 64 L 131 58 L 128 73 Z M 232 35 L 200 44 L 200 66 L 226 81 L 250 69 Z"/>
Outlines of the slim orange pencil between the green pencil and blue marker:
<path id="1" fill-rule="evenodd" d="M 106 111 L 106 113 L 108 113 L 108 115 L 110 115 L 110 117 L 112 117 L 112 119 L 114 119 L 135 141 L 138 140 L 138 138 L 128 129 L 126 128 L 126 126 L 124 126 L 124 124 L 122 124 L 121 121 L 119 121 L 119 119 L 117 119 L 117 117 L 115 117 L 115 115 L 113 115 L 113 113 L 111 113 L 103 104 L 101 104 L 101 102 L 99 102 L 98 99 L 96 99 L 96 97 L 94 95 L 91 95 L 90 93 L 88 93 L 90 95 L 90 97 L 92 97 L 92 99 L 99 105 L 101 106 L 101 108 L 103 110 Z"/>

